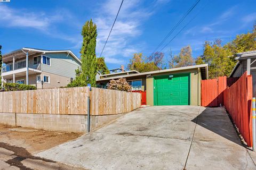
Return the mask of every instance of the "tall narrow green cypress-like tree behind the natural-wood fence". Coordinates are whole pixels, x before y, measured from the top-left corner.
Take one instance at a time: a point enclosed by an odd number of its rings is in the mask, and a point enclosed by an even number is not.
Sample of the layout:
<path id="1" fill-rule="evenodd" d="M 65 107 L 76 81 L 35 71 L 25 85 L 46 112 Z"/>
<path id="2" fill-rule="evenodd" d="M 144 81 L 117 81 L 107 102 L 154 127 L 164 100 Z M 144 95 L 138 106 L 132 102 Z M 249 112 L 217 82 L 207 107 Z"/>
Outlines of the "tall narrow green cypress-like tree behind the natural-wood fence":
<path id="1" fill-rule="evenodd" d="M 86 21 L 83 26 L 82 33 L 83 44 L 81 48 L 81 71 L 76 70 L 76 74 L 79 74 L 76 79 L 68 84 L 68 87 L 81 87 L 86 86 L 88 83 L 92 87 L 96 86 L 96 69 L 97 59 L 95 54 L 96 38 L 97 38 L 97 26 L 90 21 Z M 88 80 L 87 80 L 88 77 Z"/>

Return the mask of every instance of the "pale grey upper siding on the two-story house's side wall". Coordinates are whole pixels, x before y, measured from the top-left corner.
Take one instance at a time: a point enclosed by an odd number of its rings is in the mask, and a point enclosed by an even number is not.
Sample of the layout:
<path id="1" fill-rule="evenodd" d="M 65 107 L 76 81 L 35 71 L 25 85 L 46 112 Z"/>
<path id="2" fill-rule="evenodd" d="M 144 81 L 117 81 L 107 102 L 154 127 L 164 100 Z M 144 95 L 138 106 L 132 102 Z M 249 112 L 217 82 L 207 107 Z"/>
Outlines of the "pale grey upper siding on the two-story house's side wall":
<path id="1" fill-rule="evenodd" d="M 66 53 L 47 53 L 45 56 L 51 58 L 51 65 L 42 64 L 42 71 L 68 78 L 76 77 L 75 70 L 80 64 L 72 56 L 67 57 Z"/>

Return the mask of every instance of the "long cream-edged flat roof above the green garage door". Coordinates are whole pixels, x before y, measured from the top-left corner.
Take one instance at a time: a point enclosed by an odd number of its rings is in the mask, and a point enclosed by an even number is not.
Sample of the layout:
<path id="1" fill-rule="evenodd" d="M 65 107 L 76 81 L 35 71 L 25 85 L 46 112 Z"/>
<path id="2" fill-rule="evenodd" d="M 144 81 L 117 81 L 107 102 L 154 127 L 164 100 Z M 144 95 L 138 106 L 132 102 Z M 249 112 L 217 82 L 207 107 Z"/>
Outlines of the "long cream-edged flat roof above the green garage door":
<path id="1" fill-rule="evenodd" d="M 97 81 L 112 80 L 112 79 L 119 79 L 119 78 L 128 78 L 128 77 L 137 77 L 137 76 L 140 76 L 140 75 L 157 74 L 157 73 L 165 73 L 165 72 L 180 71 L 180 70 L 189 70 L 189 69 L 196 69 L 196 68 L 205 68 L 205 72 L 202 73 L 202 76 L 205 77 L 205 79 L 208 79 L 208 64 L 200 64 L 200 65 L 192 65 L 192 66 L 186 66 L 186 67 L 178 67 L 178 68 L 173 68 L 173 69 L 149 71 L 149 72 L 128 74 L 128 75 L 119 75 L 119 76 L 116 76 L 116 77 L 102 78 L 102 79 L 99 79 Z"/>

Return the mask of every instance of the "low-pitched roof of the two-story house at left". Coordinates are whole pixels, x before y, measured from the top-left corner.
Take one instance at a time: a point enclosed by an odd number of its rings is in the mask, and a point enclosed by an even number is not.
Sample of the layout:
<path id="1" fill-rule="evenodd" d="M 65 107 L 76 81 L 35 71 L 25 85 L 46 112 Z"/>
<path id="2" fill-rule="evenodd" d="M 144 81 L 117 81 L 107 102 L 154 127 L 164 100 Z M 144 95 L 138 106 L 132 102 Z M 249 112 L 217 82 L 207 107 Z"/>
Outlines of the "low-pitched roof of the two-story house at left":
<path id="1" fill-rule="evenodd" d="M 14 50 L 10 53 L 6 53 L 4 55 L 2 55 L 3 61 L 7 58 L 13 57 L 13 55 L 15 56 L 19 56 L 22 54 L 25 54 L 24 52 L 29 52 L 29 55 L 33 55 L 36 53 L 68 53 L 71 56 L 73 56 L 75 58 L 75 60 L 77 60 L 80 64 L 82 64 L 81 60 L 70 50 L 45 50 L 45 49 L 37 49 L 37 48 L 27 48 L 27 47 L 23 47 L 21 49 L 17 49 Z"/>

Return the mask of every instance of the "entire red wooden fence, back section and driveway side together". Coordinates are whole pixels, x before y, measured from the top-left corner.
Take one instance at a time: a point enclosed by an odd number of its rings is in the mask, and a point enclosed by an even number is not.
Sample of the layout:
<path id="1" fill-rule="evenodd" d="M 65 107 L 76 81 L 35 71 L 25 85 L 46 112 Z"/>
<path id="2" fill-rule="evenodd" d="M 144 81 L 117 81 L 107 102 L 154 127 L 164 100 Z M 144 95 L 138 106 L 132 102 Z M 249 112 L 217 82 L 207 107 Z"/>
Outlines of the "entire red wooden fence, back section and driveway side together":
<path id="1" fill-rule="evenodd" d="M 201 105 L 224 105 L 249 147 L 252 146 L 251 125 L 252 76 L 219 77 L 201 81 Z"/>

